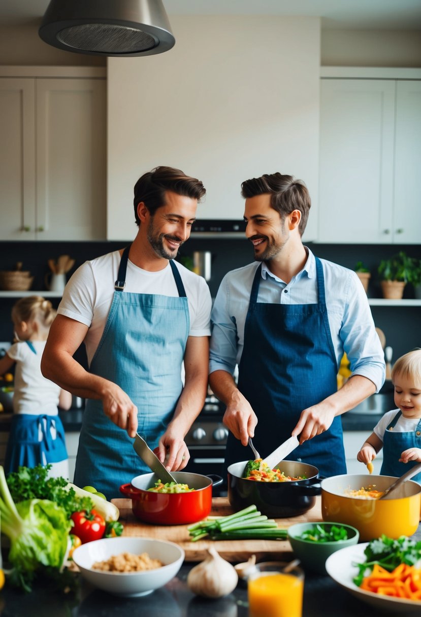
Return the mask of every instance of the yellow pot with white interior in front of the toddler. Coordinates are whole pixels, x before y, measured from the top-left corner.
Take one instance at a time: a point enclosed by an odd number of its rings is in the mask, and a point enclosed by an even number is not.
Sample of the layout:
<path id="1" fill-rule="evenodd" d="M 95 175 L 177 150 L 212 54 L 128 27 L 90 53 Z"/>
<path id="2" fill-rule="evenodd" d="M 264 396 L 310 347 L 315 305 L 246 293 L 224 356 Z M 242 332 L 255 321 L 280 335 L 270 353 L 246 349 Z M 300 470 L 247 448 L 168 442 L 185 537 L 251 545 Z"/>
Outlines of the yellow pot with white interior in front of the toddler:
<path id="1" fill-rule="evenodd" d="M 321 482 L 323 521 L 335 521 L 356 527 L 360 542 L 385 534 L 391 538 L 412 536 L 417 531 L 421 512 L 421 486 L 407 480 L 393 491 L 393 499 L 357 499 L 347 489 L 373 487 L 384 491 L 396 478 L 355 474 L 332 476 Z"/>

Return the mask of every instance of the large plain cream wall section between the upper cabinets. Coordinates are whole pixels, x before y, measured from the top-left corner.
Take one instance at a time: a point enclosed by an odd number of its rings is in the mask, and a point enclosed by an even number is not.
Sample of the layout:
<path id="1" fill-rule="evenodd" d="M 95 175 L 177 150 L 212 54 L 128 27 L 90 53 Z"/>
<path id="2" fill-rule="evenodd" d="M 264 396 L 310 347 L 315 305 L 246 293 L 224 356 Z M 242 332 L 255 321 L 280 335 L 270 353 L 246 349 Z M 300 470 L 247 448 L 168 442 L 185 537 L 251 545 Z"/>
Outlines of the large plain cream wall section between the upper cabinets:
<path id="1" fill-rule="evenodd" d="M 171 51 L 108 62 L 109 239 L 135 235 L 133 185 L 156 165 L 203 181 L 200 218 L 242 218 L 241 182 L 276 171 L 315 202 L 319 19 L 174 16 L 172 27 Z"/>

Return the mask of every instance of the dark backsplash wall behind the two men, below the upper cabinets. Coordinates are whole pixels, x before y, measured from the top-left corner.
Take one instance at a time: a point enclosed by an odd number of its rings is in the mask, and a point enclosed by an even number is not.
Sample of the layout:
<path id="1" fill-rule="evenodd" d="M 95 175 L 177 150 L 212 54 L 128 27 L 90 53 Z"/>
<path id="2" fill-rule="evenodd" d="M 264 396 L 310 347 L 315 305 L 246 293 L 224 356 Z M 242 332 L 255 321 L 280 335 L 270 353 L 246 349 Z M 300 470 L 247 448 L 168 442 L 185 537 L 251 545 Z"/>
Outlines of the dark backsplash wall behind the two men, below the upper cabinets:
<path id="1" fill-rule="evenodd" d="M 31 289 L 45 291 L 45 276 L 49 273 L 47 260 L 57 259 L 59 255 L 69 254 L 76 260 L 72 272 L 86 260 L 93 259 L 125 246 L 124 242 L 2 242 L 0 245 L 0 270 L 12 270 L 16 262 L 23 263 L 23 270 L 30 270 L 35 277 Z M 405 251 L 411 257 L 421 259 L 421 245 L 396 244 L 316 244 L 309 247 L 318 257 L 340 263 L 354 269 L 358 261 L 364 262 L 372 273 L 369 297 L 381 297 L 377 267 L 385 259 L 398 251 Z M 253 259 L 252 247 L 243 237 L 225 239 L 195 238 L 192 236 L 180 249 L 180 257 L 190 257 L 193 251 L 211 251 L 212 277 L 208 281 L 212 297 L 215 297 L 220 281 L 225 273 L 249 263 Z M 408 284 L 404 298 L 413 298 L 414 289 Z M 13 336 L 10 310 L 16 298 L 0 298 L 0 341 L 10 341 Z M 51 299 L 57 307 L 59 299 Z M 371 307 L 375 324 L 386 334 L 386 345 L 393 348 L 393 362 L 399 355 L 413 347 L 421 347 L 421 307 Z"/>

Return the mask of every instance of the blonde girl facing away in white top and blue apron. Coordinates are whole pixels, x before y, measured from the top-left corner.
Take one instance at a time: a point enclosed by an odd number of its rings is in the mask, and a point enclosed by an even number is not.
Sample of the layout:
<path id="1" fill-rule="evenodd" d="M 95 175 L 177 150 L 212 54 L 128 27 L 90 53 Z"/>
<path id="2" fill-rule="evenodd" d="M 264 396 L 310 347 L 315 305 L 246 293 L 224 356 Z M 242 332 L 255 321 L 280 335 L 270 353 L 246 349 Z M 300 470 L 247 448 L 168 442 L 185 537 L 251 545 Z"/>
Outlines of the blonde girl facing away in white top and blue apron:
<path id="1" fill-rule="evenodd" d="M 56 311 L 41 296 L 29 296 L 12 308 L 15 339 L 18 341 L 0 360 L 0 375 L 15 365 L 15 384 L 6 474 L 20 465 L 52 464 L 51 476 L 69 478 L 69 460 L 64 429 L 57 406 L 69 409 L 72 395 L 41 374 L 48 331 Z"/>

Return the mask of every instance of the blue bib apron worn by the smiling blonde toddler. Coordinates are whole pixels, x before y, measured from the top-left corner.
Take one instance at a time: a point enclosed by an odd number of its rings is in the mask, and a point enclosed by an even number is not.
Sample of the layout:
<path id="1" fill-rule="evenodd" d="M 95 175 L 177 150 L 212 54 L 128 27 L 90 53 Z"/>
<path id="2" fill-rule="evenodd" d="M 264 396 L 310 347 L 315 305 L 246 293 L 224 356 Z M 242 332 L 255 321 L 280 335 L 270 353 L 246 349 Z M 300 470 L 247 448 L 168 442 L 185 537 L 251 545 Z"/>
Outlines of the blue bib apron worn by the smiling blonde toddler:
<path id="1" fill-rule="evenodd" d="M 383 464 L 380 469 L 381 476 L 396 476 L 399 478 L 406 473 L 406 471 L 414 467 L 414 465 L 418 464 L 417 461 L 402 463 L 399 461 L 399 458 L 401 458 L 401 454 L 404 450 L 409 448 L 421 448 L 421 420 L 414 431 L 405 431 L 405 433 L 400 433 L 399 431 L 395 432 L 393 428 L 401 415 L 401 411 L 396 413 L 383 435 Z M 417 473 L 411 480 L 421 483 L 421 473 Z"/>

